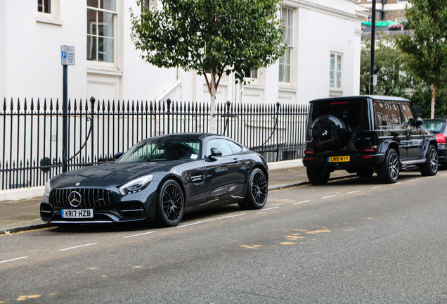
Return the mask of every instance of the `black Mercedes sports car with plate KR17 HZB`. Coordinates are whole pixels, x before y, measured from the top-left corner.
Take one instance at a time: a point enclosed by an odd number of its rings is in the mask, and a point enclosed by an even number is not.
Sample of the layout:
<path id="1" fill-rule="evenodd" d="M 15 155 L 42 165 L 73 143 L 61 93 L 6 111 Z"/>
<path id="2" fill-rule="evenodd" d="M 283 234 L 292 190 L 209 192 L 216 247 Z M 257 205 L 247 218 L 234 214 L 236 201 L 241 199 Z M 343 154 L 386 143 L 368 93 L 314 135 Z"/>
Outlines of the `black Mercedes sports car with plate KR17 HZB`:
<path id="1" fill-rule="evenodd" d="M 57 175 L 45 186 L 41 219 L 54 224 L 157 220 L 179 224 L 183 213 L 267 201 L 264 158 L 216 134 L 169 134 L 138 142 L 115 163 Z"/>

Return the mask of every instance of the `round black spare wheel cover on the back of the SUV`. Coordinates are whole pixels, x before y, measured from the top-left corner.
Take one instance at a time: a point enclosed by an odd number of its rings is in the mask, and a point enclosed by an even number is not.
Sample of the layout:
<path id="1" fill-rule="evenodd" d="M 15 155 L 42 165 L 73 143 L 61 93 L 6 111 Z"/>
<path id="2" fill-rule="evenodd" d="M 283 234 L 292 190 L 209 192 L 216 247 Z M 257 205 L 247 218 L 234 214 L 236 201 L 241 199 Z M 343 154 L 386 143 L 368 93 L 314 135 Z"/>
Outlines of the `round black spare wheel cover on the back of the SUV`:
<path id="1" fill-rule="evenodd" d="M 323 150 L 334 150 L 343 144 L 346 138 L 346 125 L 333 115 L 321 115 L 311 125 L 312 141 Z"/>

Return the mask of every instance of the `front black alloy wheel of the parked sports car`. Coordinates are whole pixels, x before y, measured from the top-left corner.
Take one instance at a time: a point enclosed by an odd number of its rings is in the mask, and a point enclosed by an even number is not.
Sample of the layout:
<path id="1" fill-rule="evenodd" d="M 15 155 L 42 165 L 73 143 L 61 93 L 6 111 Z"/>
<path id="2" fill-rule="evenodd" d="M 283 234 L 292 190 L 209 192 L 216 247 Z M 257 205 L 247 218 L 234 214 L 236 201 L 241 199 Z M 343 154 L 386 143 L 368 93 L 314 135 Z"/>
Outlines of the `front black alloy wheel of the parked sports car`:
<path id="1" fill-rule="evenodd" d="M 183 217 L 185 198 L 179 184 L 168 179 L 157 196 L 157 222 L 164 227 L 174 227 Z"/>

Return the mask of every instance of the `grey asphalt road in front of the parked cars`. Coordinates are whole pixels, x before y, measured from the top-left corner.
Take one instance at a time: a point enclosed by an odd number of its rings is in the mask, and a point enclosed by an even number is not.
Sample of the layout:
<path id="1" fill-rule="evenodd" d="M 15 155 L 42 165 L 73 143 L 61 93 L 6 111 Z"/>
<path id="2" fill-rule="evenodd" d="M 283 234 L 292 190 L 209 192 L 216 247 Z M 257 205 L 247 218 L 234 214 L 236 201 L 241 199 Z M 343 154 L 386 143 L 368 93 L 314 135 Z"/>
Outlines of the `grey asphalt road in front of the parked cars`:
<path id="1" fill-rule="evenodd" d="M 447 303 L 446 182 L 342 179 L 169 229 L 0 236 L 0 303 Z"/>

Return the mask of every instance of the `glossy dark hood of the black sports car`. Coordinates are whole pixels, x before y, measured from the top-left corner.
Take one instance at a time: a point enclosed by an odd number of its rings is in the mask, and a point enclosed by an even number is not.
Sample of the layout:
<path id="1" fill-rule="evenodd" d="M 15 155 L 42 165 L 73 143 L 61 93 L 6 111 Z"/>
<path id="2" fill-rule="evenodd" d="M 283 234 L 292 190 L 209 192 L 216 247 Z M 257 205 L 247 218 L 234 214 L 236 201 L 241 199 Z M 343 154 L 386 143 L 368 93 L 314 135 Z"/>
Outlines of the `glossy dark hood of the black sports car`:
<path id="1" fill-rule="evenodd" d="M 114 187 L 155 172 L 169 172 L 176 161 L 166 163 L 108 163 L 82 167 L 51 179 L 51 189 Z"/>

